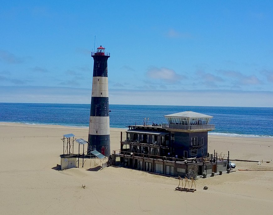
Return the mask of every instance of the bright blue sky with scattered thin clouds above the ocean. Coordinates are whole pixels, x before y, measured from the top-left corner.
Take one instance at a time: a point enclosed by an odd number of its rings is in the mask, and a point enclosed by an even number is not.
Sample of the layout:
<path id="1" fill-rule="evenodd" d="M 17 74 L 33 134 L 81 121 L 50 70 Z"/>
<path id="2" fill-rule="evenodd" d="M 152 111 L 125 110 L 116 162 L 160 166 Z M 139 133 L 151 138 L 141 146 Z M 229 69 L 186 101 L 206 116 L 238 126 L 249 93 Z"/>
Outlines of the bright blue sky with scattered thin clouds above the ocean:
<path id="1" fill-rule="evenodd" d="M 272 1 L 0 1 L 0 102 L 273 107 Z"/>

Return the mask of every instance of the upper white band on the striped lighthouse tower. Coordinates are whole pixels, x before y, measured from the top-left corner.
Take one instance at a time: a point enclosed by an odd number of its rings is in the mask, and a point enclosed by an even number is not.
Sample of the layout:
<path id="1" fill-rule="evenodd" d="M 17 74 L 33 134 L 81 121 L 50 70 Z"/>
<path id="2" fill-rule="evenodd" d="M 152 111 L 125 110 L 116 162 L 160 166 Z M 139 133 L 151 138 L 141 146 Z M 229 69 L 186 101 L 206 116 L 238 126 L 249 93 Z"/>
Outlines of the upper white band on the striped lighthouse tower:
<path id="1" fill-rule="evenodd" d="M 109 97 L 108 77 L 93 77 L 92 97 Z"/>

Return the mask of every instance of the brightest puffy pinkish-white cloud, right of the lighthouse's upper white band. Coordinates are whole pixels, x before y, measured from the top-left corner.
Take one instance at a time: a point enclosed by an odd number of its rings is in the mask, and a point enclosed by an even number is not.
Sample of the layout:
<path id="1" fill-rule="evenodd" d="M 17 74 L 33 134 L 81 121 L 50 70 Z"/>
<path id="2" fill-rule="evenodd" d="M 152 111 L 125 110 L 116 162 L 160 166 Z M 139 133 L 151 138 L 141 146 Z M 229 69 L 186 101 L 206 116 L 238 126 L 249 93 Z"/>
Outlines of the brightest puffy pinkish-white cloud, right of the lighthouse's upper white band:
<path id="1" fill-rule="evenodd" d="M 167 83 L 176 83 L 179 80 L 186 79 L 185 76 L 177 74 L 174 70 L 166 67 L 151 67 L 147 71 L 147 76 L 153 79 L 159 79 Z"/>

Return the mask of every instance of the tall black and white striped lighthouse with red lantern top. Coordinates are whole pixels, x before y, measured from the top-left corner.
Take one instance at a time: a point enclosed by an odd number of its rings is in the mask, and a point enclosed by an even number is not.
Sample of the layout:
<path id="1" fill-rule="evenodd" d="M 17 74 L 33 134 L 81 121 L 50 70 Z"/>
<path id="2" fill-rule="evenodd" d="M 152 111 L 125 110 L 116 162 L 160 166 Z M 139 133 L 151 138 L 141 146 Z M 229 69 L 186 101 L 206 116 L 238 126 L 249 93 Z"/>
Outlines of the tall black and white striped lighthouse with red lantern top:
<path id="1" fill-rule="evenodd" d="M 110 121 L 108 96 L 107 60 L 110 53 L 99 46 L 91 52 L 94 59 L 92 97 L 90 108 L 88 152 L 97 150 L 105 156 L 110 155 Z"/>

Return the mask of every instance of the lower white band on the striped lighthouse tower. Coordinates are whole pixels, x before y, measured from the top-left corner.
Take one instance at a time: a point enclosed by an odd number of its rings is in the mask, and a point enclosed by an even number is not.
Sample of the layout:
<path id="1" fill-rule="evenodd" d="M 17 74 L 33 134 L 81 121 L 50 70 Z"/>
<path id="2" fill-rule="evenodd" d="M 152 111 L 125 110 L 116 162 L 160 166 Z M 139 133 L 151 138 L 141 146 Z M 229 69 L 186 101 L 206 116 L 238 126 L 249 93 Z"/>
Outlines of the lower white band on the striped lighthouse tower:
<path id="1" fill-rule="evenodd" d="M 110 134 L 109 117 L 90 116 L 89 134 L 91 135 L 109 135 Z"/>

